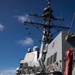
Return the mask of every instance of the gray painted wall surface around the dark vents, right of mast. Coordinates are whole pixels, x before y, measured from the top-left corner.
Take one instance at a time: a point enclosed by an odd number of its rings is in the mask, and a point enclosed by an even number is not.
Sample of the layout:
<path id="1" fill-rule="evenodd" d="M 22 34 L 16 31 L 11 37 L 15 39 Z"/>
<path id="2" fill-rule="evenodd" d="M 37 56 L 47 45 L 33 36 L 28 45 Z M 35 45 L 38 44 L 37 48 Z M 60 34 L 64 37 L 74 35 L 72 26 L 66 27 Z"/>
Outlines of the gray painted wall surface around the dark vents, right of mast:
<path id="1" fill-rule="evenodd" d="M 50 56 L 52 56 L 55 52 L 57 52 L 56 62 L 59 63 L 60 60 L 62 61 L 61 67 L 62 67 L 62 71 L 64 71 L 65 51 L 68 50 L 71 47 L 75 48 L 75 40 L 68 42 L 68 41 L 65 40 L 66 36 L 67 36 L 67 32 L 60 32 L 57 35 L 57 37 L 55 37 L 55 39 L 48 45 L 48 51 L 47 51 L 47 54 L 46 54 L 45 65 L 47 64 L 47 59 Z M 52 48 L 53 43 L 54 43 L 54 46 Z M 55 63 L 52 64 L 52 65 L 54 65 L 54 67 L 55 67 Z M 50 66 L 51 65 L 48 65 L 48 66 L 46 66 L 46 68 L 49 68 Z"/>

